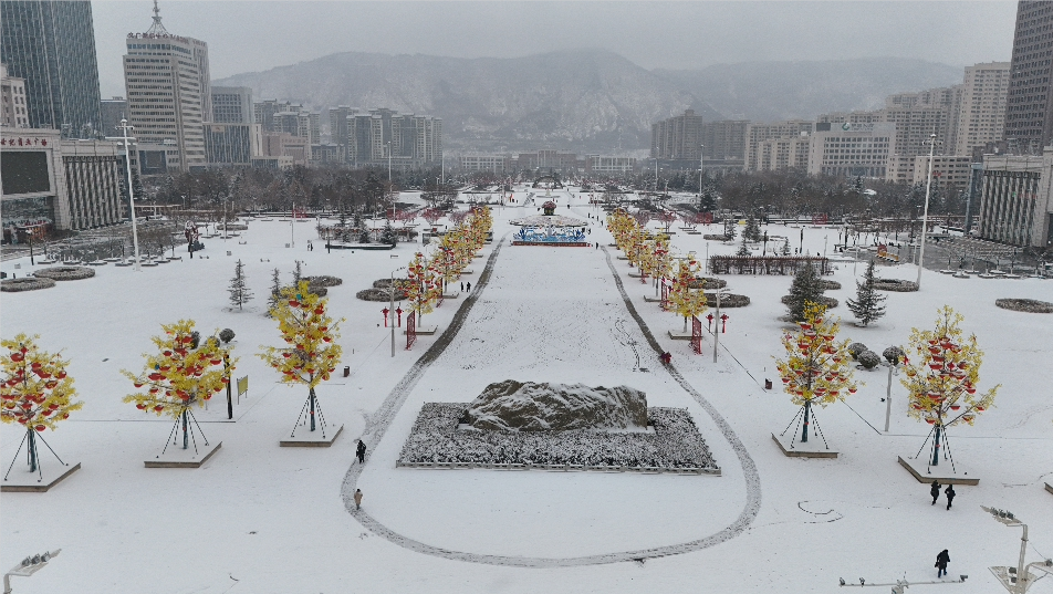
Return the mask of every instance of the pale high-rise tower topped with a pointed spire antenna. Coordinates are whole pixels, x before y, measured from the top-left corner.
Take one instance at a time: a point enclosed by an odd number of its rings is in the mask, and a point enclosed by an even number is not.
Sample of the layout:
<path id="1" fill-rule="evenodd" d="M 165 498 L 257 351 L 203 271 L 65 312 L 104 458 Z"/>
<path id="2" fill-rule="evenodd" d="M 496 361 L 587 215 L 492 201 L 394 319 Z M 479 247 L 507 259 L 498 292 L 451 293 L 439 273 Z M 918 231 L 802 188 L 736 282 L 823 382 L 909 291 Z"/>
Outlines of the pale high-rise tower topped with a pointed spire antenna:
<path id="1" fill-rule="evenodd" d="M 208 44 L 169 33 L 154 0 L 154 24 L 128 33 L 124 83 L 128 121 L 139 144 L 168 145 L 168 167 L 206 166 L 205 128 L 211 117 Z"/>

